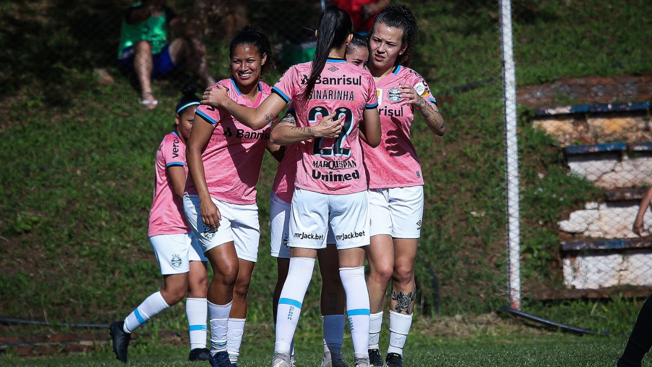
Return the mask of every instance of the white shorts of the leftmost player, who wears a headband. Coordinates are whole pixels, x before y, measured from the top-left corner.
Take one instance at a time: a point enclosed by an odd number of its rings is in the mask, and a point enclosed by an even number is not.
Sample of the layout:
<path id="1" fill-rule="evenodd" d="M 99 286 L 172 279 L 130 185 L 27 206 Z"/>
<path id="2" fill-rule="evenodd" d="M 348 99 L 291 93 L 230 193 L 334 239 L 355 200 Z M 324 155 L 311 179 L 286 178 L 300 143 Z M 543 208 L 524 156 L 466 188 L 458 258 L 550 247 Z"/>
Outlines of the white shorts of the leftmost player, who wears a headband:
<path id="1" fill-rule="evenodd" d="M 162 275 L 187 273 L 190 271 L 190 261 L 208 261 L 192 232 L 151 236 L 149 243 L 152 244 Z"/>

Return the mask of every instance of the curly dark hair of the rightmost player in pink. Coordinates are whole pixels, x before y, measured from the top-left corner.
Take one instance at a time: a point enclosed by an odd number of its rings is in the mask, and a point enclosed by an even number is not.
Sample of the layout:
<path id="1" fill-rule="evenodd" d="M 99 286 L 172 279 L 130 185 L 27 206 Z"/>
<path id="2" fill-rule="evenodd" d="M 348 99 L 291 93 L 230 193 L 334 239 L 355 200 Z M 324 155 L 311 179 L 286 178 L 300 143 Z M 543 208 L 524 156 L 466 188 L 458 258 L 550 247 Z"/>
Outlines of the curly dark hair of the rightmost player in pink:
<path id="1" fill-rule="evenodd" d="M 371 27 L 372 34 L 374 33 L 376 24 L 384 24 L 403 31 L 401 47 L 407 47 L 403 54 L 396 57 L 394 65 L 408 65 L 412 57 L 412 52 L 414 51 L 414 46 L 417 43 L 417 33 L 419 33 L 417 18 L 415 18 L 412 10 L 409 10 L 405 5 L 387 5 L 376 16 L 374 25 Z"/>

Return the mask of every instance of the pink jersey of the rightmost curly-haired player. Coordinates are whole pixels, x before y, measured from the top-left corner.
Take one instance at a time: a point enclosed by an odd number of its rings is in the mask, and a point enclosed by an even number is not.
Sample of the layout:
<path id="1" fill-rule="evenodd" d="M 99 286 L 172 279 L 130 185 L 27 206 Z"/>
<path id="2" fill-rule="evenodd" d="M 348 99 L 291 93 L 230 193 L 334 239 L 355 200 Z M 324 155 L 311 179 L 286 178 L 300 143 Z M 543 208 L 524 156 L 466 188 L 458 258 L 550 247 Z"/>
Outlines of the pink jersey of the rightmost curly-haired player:
<path id="1" fill-rule="evenodd" d="M 426 81 L 408 67 L 399 65 L 376 82 L 382 131 L 380 145 L 371 148 L 362 144 L 370 189 L 423 185 L 419 158 L 409 138 L 414 107 L 412 104 L 399 105 L 401 84 L 413 86 L 426 101 L 436 103 Z"/>

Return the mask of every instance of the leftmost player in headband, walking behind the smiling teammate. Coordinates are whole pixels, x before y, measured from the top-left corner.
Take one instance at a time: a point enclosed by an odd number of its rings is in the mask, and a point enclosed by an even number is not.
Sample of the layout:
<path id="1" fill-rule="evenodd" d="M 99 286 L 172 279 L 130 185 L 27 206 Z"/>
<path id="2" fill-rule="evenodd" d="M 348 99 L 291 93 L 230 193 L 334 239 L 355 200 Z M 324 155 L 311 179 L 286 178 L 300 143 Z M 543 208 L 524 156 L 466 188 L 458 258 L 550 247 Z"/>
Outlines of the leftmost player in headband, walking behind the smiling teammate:
<path id="1" fill-rule="evenodd" d="M 163 287 L 130 313 L 124 321 L 111 323 L 115 358 L 127 362 L 131 333 L 160 311 L 186 298 L 186 315 L 190 329 L 188 360 L 207 360 L 206 258 L 183 215 L 181 197 L 186 185 L 186 141 L 200 99 L 196 86 L 184 88 L 177 102 L 175 131 L 163 138 L 156 153 L 154 201 L 149 211 L 147 235 L 163 275 Z"/>

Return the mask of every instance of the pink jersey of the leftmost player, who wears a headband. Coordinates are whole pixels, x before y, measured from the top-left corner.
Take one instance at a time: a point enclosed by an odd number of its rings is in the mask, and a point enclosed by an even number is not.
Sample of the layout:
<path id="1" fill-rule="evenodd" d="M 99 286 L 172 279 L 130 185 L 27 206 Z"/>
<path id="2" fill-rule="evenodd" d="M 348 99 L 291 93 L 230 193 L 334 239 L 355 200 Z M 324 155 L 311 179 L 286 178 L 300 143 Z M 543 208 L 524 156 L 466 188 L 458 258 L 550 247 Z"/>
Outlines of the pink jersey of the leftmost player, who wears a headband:
<path id="1" fill-rule="evenodd" d="M 172 182 L 168 178 L 168 167 L 183 167 L 188 176 L 186 144 L 176 132 L 163 138 L 156 152 L 155 167 L 154 200 L 149 210 L 147 236 L 190 232 L 190 226 L 183 214 L 183 202 L 175 195 Z"/>

